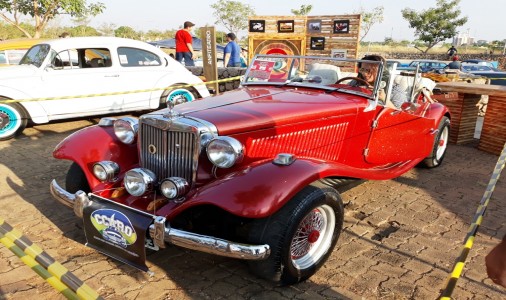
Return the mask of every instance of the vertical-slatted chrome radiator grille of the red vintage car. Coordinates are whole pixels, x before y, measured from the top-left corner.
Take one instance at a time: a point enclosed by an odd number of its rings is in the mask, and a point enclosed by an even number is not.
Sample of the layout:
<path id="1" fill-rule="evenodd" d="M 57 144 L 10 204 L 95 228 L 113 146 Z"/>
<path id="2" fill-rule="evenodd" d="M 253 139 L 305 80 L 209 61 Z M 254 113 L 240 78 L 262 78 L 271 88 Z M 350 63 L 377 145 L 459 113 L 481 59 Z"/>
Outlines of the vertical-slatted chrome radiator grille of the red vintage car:
<path id="1" fill-rule="evenodd" d="M 140 160 L 158 180 L 177 176 L 192 185 L 197 169 L 198 141 L 195 131 L 170 131 L 140 123 Z"/>

